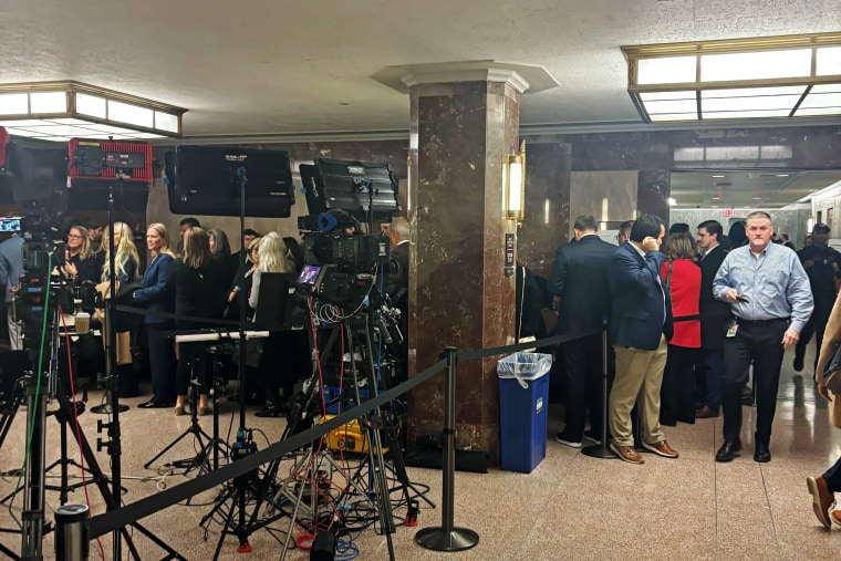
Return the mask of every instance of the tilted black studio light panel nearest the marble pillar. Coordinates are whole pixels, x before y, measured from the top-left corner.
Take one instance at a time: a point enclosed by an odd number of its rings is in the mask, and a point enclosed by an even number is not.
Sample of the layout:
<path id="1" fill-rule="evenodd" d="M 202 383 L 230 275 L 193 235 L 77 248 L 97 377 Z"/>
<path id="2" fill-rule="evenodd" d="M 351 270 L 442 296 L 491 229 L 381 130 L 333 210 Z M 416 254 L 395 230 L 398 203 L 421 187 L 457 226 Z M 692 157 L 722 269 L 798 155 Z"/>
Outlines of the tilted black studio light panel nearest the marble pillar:
<path id="1" fill-rule="evenodd" d="M 314 165 L 299 168 L 312 216 L 339 208 L 361 222 L 372 218 L 370 211 L 374 221 L 391 222 L 401 209 L 397 183 L 387 164 L 316 158 Z"/>

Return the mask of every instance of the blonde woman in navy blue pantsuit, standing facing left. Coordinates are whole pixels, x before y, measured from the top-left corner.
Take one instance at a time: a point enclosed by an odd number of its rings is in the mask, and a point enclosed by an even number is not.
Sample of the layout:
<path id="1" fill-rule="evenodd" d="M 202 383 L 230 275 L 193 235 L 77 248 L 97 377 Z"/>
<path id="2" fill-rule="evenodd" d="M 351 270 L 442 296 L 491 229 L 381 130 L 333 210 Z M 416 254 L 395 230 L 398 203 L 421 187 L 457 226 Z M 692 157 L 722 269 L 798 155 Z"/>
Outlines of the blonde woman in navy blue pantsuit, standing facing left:
<path id="1" fill-rule="evenodd" d="M 160 222 L 149 225 L 149 229 L 146 230 L 146 247 L 149 249 L 149 264 L 143 274 L 143 289 L 135 291 L 134 301 L 150 311 L 173 313 L 175 301 L 173 294 L 166 291 L 166 282 L 175 256 L 169 249 L 166 226 Z M 146 315 L 143 321 L 148 340 L 153 396 L 139 407 L 172 407 L 175 405 L 176 360 L 173 341 L 167 336 L 167 332 L 172 331 L 174 322 L 157 315 Z"/>

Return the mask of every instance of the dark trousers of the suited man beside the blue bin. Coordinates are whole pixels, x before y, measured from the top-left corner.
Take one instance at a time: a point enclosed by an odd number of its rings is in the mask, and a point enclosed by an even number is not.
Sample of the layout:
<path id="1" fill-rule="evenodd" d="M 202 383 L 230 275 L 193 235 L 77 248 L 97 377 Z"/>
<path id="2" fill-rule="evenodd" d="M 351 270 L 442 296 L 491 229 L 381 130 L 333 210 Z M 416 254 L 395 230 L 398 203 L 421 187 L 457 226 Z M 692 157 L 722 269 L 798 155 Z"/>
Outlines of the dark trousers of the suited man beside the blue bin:
<path id="1" fill-rule="evenodd" d="M 580 443 L 584 435 L 588 407 L 591 429 L 598 435 L 602 433 L 602 334 L 561 343 L 560 349 L 565 367 L 567 426 L 563 434 L 572 441 Z"/>

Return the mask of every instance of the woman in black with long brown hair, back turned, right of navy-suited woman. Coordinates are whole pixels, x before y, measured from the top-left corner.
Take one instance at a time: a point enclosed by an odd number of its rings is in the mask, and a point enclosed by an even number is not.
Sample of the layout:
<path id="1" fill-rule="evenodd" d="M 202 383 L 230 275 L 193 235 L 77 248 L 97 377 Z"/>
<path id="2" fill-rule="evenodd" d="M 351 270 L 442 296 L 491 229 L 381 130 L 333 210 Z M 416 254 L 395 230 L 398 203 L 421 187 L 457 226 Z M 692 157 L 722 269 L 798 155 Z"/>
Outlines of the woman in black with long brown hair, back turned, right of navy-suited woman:
<path id="1" fill-rule="evenodd" d="M 175 320 L 177 331 L 199 330 L 214 326 L 225 310 L 225 271 L 210 254 L 210 242 L 201 228 L 188 228 L 184 232 L 184 257 L 169 268 L 167 290 L 175 293 L 175 313 L 179 316 L 206 318 L 207 321 Z M 207 363 L 205 350 L 208 343 L 178 345 L 178 368 L 175 384 L 177 397 L 175 414 L 184 415 L 184 402 L 190 383 L 190 374 L 199 382 L 198 414 L 207 415 Z"/>

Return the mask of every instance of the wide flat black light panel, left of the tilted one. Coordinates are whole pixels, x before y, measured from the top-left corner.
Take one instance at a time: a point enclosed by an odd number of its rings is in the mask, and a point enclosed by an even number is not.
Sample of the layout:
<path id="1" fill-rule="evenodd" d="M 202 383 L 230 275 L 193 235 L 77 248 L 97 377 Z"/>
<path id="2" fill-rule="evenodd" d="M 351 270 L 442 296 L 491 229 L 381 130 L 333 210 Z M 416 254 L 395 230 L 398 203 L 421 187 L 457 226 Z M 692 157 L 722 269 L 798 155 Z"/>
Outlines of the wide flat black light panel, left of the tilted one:
<path id="1" fill-rule="evenodd" d="M 246 216 L 289 218 L 295 200 L 289 153 L 217 146 L 178 146 L 166 154 L 169 210 L 239 216 L 240 168 L 247 178 Z"/>

